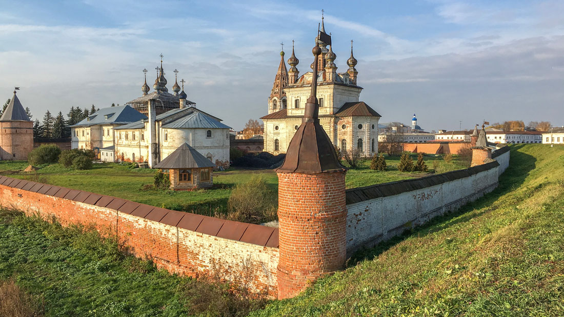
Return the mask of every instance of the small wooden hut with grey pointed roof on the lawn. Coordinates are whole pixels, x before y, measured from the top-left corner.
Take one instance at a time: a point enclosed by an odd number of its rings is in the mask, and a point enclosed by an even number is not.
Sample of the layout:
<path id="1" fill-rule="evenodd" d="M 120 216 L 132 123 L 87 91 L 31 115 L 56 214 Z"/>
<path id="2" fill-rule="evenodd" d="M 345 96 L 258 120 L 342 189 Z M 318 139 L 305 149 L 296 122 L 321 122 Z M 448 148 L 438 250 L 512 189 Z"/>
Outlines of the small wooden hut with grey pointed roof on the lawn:
<path id="1" fill-rule="evenodd" d="M 211 187 L 214 167 L 215 164 L 187 143 L 155 165 L 162 173 L 169 174 L 170 188 L 173 190 Z"/>

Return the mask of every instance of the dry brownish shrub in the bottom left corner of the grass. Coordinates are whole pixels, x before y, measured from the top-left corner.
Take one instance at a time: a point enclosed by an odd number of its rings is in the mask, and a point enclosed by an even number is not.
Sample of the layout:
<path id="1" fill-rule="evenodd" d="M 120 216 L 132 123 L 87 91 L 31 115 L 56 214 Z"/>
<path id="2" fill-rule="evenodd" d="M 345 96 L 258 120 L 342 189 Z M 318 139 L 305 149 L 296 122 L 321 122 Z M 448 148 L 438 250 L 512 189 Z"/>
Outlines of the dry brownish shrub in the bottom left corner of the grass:
<path id="1" fill-rule="evenodd" d="M 0 281 L 0 316 L 43 316 L 40 298 L 24 292 L 14 280 Z"/>

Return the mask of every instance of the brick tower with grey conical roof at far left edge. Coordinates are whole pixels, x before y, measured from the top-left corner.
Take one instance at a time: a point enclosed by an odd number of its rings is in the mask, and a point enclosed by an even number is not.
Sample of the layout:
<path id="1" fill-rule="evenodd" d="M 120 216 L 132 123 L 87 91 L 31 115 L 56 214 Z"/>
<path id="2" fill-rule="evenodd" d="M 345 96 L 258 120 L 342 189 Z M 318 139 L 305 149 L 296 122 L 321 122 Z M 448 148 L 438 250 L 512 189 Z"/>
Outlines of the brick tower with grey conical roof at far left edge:
<path id="1" fill-rule="evenodd" d="M 17 98 L 17 89 L 0 117 L 0 160 L 27 160 L 33 149 L 33 121 Z"/>

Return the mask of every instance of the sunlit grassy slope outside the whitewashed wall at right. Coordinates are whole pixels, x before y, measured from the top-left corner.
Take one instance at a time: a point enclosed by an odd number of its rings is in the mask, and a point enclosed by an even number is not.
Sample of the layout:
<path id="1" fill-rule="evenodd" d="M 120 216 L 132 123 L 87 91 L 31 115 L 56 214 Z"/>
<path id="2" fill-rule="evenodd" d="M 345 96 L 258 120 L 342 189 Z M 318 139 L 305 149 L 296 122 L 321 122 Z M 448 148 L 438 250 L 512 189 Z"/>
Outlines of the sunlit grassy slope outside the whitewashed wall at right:
<path id="1" fill-rule="evenodd" d="M 562 316 L 563 210 L 564 147 L 513 146 L 494 192 L 253 315 Z"/>

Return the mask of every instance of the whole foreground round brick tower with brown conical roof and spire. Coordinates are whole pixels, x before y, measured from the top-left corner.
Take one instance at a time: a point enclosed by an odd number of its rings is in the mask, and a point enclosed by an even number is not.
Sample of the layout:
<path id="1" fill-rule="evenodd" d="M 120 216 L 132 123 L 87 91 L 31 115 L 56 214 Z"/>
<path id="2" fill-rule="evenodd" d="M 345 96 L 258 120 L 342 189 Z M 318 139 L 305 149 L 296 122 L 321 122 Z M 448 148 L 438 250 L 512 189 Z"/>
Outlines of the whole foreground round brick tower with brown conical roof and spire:
<path id="1" fill-rule="evenodd" d="M 315 60 L 321 54 L 313 49 Z M 318 63 L 314 63 L 314 74 Z M 310 281 L 331 274 L 346 260 L 345 173 L 319 124 L 313 76 L 311 96 L 284 164 L 276 170 L 279 250 L 278 298 L 296 296 Z"/>

